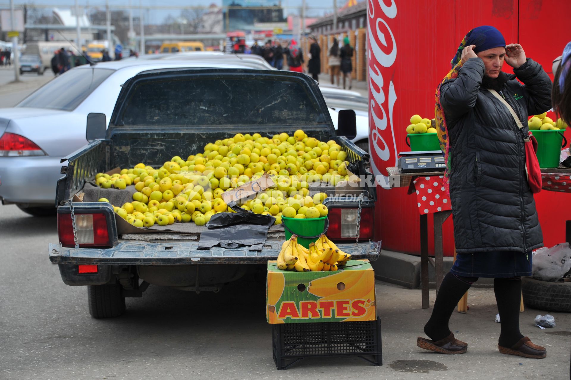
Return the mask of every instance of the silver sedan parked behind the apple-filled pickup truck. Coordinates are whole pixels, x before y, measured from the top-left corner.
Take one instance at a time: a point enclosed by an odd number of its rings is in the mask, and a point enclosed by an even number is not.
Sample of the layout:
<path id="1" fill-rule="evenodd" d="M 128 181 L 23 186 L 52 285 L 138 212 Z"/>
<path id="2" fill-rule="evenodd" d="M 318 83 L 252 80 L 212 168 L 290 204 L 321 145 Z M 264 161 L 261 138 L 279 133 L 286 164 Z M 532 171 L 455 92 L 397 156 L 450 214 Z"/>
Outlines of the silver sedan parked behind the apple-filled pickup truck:
<path id="1" fill-rule="evenodd" d="M 0 109 L 2 204 L 15 203 L 32 215 L 54 214 L 61 160 L 87 143 L 87 114 L 105 114 L 108 123 L 123 83 L 143 71 L 209 67 L 251 69 L 252 64 L 239 65 L 230 59 L 125 59 L 83 65 L 54 78 L 17 106 Z M 329 114 L 337 128 L 337 111 L 329 108 Z M 368 123 L 359 119 L 357 116 L 357 137 L 352 142 L 368 138 Z"/>

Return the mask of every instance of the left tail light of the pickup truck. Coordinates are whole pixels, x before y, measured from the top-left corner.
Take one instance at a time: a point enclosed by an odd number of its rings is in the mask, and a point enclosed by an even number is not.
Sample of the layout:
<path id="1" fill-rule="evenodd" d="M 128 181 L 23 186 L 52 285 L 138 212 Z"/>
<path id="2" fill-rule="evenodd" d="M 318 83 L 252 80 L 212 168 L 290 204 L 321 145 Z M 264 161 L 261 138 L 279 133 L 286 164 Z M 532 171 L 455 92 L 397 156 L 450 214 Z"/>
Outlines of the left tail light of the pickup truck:
<path id="1" fill-rule="evenodd" d="M 75 230 L 80 247 L 110 247 L 105 214 L 75 214 Z M 59 242 L 75 247 L 71 214 L 58 214 Z"/>

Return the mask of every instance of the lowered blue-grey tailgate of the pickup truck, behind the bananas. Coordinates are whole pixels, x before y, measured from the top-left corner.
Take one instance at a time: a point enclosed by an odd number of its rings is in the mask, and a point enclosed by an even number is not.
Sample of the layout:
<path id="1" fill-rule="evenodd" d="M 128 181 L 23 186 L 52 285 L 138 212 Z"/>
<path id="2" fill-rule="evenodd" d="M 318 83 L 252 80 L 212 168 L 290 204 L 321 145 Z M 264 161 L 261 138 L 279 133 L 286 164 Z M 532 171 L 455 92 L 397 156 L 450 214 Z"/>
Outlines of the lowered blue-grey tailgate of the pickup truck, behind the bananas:
<path id="1" fill-rule="evenodd" d="M 97 265 L 175 265 L 175 264 L 263 264 L 278 258 L 282 241 L 268 240 L 262 251 L 247 247 L 198 249 L 198 242 L 120 241 L 107 249 L 66 248 L 50 243 L 50 261 L 54 264 Z M 339 249 L 355 259 L 375 261 L 379 258 L 381 242 L 337 244 Z"/>

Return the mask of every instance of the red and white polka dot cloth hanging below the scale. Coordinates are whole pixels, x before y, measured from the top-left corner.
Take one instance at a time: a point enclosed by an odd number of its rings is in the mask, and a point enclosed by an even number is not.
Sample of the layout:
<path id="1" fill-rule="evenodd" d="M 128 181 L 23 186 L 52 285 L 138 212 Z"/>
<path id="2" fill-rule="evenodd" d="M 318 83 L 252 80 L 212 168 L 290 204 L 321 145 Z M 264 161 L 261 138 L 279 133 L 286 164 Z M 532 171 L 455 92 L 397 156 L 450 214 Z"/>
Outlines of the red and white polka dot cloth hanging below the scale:
<path id="1" fill-rule="evenodd" d="M 452 210 L 450 198 L 442 181 L 442 175 L 416 177 L 412 181 L 411 190 L 416 191 L 416 201 L 421 215 Z"/>

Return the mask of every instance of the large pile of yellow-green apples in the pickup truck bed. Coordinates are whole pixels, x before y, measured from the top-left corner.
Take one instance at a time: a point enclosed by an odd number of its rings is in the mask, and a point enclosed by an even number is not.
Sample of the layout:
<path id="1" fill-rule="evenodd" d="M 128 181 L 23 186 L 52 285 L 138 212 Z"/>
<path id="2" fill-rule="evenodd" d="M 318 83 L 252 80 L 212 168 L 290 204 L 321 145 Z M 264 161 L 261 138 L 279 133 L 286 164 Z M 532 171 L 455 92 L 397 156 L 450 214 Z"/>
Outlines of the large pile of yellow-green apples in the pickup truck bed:
<path id="1" fill-rule="evenodd" d="M 244 183 L 273 175 L 275 186 L 260 191 L 240 207 L 255 214 L 272 215 L 275 224 L 287 218 L 319 218 L 328 214 L 325 193 L 309 196 L 309 183 L 335 186 L 348 179 L 347 153 L 335 141 L 318 141 L 302 130 L 262 137 L 236 134 L 208 143 L 204 153 L 186 160 L 171 158 L 158 169 L 144 163 L 117 174 L 98 173 L 95 182 L 105 189 L 134 186 L 132 202 L 114 206 L 115 213 L 136 227 L 194 222 L 203 226 L 212 215 L 234 212 L 222 194 Z M 106 198 L 99 199 L 108 202 Z"/>

